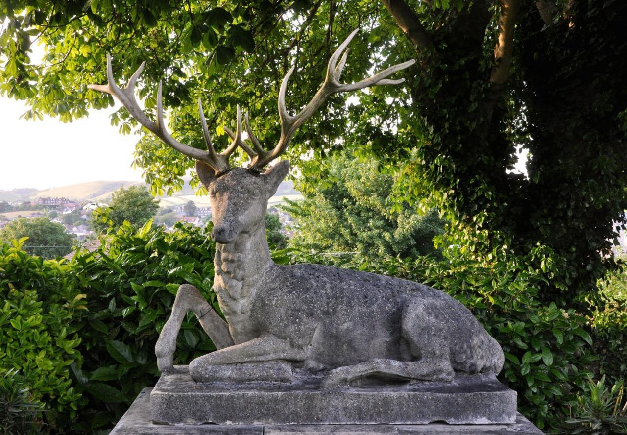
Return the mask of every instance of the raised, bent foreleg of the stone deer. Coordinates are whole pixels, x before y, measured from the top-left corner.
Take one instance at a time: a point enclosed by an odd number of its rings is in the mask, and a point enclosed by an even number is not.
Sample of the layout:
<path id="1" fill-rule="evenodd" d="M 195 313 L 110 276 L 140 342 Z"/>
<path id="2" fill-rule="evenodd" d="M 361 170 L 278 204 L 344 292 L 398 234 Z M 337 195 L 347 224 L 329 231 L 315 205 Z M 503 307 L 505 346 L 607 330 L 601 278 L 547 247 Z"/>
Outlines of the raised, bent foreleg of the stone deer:
<path id="1" fill-rule="evenodd" d="M 173 370 L 176 337 L 179 335 L 181 323 L 187 312 L 192 311 L 217 349 L 224 349 L 233 345 L 233 338 L 229 333 L 228 323 L 219 317 L 213 307 L 204 299 L 198 289 L 189 284 L 179 286 L 176 293 L 170 318 L 159 334 L 155 345 L 157 367 L 161 372 Z"/>

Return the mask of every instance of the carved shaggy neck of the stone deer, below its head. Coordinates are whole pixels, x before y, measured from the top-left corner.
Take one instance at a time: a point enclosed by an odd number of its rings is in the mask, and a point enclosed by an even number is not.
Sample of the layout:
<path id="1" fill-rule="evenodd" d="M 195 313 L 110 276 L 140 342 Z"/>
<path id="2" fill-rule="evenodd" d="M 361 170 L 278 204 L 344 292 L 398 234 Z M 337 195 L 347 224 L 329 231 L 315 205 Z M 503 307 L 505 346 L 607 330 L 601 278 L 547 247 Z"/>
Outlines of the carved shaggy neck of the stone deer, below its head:
<path id="1" fill-rule="evenodd" d="M 274 263 L 263 221 L 233 243 L 216 243 L 214 290 L 224 314 L 245 314 L 263 273 Z"/>

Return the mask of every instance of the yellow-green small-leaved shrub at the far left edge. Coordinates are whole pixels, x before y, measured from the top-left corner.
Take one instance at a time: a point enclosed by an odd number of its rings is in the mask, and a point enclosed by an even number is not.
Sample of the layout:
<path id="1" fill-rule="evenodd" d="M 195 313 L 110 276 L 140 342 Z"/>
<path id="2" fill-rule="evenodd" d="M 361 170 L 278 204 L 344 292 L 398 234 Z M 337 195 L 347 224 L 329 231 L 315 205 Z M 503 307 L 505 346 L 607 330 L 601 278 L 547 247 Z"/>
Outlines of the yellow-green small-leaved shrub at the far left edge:
<path id="1" fill-rule="evenodd" d="M 74 417 L 82 402 L 70 379 L 81 360 L 73 322 L 85 295 L 65 263 L 29 256 L 23 242 L 0 245 L 0 372 L 21 370 L 34 402 Z"/>

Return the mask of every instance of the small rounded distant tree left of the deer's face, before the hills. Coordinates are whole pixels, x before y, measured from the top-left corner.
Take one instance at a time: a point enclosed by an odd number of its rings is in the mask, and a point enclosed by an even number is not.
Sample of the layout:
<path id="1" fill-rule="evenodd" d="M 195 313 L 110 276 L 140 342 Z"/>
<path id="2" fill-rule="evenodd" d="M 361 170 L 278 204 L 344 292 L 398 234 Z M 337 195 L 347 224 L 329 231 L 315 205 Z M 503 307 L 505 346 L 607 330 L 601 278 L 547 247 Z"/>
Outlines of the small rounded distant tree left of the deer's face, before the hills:
<path id="1" fill-rule="evenodd" d="M 111 228 L 119 228 L 129 221 L 133 228 L 140 228 L 155 216 L 159 201 L 154 199 L 144 186 L 121 187 L 113 192 L 108 207 L 98 207 L 92 212 L 92 228 L 99 234 Z"/>

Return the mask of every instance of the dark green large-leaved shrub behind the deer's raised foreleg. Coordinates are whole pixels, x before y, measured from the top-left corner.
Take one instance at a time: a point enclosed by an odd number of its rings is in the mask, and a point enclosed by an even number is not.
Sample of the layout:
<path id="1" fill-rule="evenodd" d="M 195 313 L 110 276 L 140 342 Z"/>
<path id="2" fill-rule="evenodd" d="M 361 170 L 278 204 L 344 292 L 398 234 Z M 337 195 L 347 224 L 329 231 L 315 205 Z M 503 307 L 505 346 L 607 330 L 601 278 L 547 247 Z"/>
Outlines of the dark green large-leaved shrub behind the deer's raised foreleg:
<path id="1" fill-rule="evenodd" d="M 211 228 L 208 230 L 211 231 Z M 202 229 L 181 223 L 166 233 L 149 221 L 124 223 L 93 253 L 73 259 L 75 279 L 89 295 L 78 330 L 83 365 L 76 389 L 88 400 L 74 426 L 85 432 L 110 427 L 139 391 L 159 378 L 154 345 L 170 315 L 179 285 L 189 283 L 218 310 L 213 285 L 214 244 Z M 214 350 L 192 313 L 183 322 L 176 364 Z"/>

